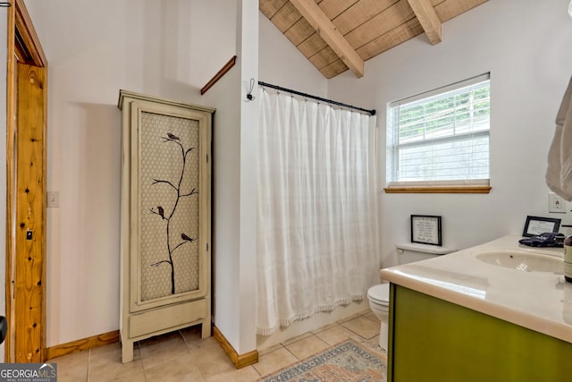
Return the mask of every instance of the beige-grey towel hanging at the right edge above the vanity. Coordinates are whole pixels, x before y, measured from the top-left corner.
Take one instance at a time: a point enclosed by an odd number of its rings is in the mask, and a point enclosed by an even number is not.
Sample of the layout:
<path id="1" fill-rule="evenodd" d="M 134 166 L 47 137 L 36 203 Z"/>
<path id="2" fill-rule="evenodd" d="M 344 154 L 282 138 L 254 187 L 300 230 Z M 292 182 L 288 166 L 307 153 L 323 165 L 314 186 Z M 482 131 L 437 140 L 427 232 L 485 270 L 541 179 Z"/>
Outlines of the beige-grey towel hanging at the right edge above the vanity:
<path id="1" fill-rule="evenodd" d="M 572 78 L 556 115 L 556 131 L 548 152 L 546 184 L 562 198 L 572 200 Z"/>

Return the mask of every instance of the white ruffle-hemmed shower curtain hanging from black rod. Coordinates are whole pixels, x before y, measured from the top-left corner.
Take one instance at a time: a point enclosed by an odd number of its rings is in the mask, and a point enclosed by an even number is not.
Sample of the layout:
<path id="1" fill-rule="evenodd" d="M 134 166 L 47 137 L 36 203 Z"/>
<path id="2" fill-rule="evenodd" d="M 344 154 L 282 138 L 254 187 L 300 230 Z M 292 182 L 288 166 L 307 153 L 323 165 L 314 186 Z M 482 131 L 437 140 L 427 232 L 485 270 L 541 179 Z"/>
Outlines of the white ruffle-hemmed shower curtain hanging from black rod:
<path id="1" fill-rule="evenodd" d="M 257 333 L 270 335 L 379 282 L 375 118 L 259 97 Z"/>

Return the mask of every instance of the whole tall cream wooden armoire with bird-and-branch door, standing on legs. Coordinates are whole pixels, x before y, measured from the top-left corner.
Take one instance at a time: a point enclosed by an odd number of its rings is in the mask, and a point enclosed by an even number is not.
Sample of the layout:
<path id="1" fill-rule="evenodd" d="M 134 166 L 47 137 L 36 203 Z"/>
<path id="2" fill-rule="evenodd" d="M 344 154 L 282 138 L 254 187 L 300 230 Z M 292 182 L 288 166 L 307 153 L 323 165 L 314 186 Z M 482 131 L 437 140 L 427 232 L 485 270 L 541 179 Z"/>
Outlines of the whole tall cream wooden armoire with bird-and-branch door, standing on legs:
<path id="1" fill-rule="evenodd" d="M 214 109 L 120 90 L 122 362 L 133 343 L 202 324 L 211 335 Z"/>

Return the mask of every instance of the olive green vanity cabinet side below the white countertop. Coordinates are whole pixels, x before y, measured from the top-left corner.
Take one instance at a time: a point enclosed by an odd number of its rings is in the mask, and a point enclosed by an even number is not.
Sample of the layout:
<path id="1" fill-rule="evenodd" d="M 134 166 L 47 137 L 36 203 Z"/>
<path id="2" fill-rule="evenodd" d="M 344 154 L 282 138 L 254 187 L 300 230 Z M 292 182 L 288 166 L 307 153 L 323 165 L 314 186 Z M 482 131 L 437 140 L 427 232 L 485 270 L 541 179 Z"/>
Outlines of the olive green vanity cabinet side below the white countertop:
<path id="1" fill-rule="evenodd" d="M 388 381 L 572 381 L 572 344 L 391 284 Z"/>

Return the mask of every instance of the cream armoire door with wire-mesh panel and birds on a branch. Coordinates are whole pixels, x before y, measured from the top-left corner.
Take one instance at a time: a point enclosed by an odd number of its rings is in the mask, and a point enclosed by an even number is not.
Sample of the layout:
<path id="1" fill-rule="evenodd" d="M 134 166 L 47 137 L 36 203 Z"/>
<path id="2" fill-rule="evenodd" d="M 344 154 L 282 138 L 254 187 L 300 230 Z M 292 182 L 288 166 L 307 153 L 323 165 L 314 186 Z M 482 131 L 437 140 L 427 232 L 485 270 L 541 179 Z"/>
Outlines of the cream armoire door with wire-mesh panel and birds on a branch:
<path id="1" fill-rule="evenodd" d="M 131 287 L 134 311 L 206 295 L 200 240 L 204 114 L 131 103 Z M 132 156 L 133 157 L 133 156 Z M 136 272 L 136 273 L 135 273 Z"/>

